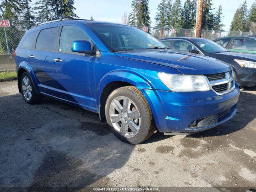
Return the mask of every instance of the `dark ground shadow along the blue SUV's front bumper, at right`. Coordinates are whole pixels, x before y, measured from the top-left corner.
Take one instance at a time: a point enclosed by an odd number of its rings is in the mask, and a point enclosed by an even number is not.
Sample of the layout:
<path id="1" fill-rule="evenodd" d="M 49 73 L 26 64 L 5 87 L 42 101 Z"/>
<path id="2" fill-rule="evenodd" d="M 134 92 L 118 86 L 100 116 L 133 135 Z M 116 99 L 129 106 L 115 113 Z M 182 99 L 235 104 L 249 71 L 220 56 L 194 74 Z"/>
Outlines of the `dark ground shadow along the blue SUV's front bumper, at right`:
<path id="1" fill-rule="evenodd" d="M 197 134 L 187 135 L 186 137 L 202 138 L 221 136 L 244 128 L 248 123 L 256 118 L 256 95 L 250 92 L 245 92 L 245 90 L 252 91 L 256 90 L 256 88 L 246 88 L 241 91 L 237 105 L 237 113 L 232 119 L 215 128 Z"/>

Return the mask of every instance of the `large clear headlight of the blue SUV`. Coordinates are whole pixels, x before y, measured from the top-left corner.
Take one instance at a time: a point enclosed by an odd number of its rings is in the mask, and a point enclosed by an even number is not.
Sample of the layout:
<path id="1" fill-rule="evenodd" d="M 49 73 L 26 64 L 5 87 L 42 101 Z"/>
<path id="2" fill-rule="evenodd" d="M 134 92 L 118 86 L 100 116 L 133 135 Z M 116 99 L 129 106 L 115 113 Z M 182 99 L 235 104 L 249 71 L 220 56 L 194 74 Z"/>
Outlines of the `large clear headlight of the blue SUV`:
<path id="1" fill-rule="evenodd" d="M 208 91 L 210 85 L 206 77 L 202 75 L 172 75 L 158 73 L 160 80 L 172 91 L 191 92 L 191 91 Z"/>

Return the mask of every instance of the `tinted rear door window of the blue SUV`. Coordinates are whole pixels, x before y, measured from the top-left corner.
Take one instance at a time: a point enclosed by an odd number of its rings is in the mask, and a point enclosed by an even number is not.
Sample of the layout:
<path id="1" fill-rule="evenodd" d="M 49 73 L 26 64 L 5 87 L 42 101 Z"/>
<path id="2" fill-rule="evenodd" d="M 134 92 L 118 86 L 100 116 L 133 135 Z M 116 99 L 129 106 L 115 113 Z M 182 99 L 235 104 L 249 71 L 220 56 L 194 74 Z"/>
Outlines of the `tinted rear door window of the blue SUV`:
<path id="1" fill-rule="evenodd" d="M 41 30 L 36 40 L 36 49 L 54 51 L 57 34 L 58 27 Z"/>

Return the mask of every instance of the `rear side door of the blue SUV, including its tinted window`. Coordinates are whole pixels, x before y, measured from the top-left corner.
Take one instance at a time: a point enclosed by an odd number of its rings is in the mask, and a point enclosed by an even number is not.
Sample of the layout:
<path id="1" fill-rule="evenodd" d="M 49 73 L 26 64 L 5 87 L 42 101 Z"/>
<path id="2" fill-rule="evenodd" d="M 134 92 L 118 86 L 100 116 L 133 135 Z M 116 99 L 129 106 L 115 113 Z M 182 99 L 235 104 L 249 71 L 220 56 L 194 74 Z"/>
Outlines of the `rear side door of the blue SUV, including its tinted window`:
<path id="1" fill-rule="evenodd" d="M 28 63 L 38 80 L 39 91 L 56 96 L 56 63 L 53 54 L 56 51 L 59 25 L 42 28 L 37 36 L 35 48 L 28 52 Z"/>

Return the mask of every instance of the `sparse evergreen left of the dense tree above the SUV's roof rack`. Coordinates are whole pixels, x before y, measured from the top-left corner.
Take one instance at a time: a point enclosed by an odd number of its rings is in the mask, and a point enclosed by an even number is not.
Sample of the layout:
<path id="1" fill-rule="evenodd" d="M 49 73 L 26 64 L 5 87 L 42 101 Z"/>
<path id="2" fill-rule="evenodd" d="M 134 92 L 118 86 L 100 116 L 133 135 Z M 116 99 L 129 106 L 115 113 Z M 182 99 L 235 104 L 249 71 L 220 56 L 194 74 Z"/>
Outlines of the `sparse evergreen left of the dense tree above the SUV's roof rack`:
<path id="1" fill-rule="evenodd" d="M 37 20 L 50 21 L 53 18 L 51 10 L 51 0 L 37 0 L 35 5 Z"/>

